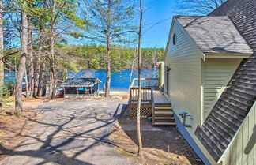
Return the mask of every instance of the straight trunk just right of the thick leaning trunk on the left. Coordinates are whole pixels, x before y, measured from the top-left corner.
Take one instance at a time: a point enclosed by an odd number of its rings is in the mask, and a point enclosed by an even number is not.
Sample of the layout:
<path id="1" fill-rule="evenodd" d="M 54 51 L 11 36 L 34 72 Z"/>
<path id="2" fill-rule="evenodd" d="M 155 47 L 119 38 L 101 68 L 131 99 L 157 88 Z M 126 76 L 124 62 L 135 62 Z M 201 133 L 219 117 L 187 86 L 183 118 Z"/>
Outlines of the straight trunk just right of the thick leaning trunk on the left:
<path id="1" fill-rule="evenodd" d="M 32 18 L 28 17 L 28 90 L 34 93 L 34 57 L 32 47 Z M 29 96 L 30 97 L 30 96 Z"/>

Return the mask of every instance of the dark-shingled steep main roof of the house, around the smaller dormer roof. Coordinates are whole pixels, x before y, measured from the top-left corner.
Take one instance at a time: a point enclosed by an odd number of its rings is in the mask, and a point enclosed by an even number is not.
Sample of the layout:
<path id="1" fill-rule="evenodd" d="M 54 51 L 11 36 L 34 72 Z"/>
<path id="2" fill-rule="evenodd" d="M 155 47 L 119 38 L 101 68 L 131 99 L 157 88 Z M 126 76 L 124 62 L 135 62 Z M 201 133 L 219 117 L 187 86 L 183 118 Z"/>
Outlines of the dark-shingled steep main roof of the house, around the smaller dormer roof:
<path id="1" fill-rule="evenodd" d="M 243 59 L 236 69 L 203 126 L 195 131 L 201 144 L 219 163 L 256 100 L 256 3 L 255 0 L 228 0 L 209 15 L 228 15 L 253 49 L 250 58 Z"/>

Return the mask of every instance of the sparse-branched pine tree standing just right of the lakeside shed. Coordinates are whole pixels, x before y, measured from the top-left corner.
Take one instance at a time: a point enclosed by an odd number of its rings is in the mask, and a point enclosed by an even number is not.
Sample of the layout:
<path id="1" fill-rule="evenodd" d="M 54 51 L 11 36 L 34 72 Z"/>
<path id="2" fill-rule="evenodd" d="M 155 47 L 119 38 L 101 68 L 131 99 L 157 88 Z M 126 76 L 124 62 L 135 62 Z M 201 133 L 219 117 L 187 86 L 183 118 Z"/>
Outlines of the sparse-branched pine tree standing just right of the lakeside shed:
<path id="1" fill-rule="evenodd" d="M 88 38 L 106 45 L 104 57 L 106 68 L 105 96 L 110 95 L 111 63 L 113 61 L 113 45 L 122 43 L 122 36 L 126 35 L 134 26 L 130 25 L 134 17 L 134 3 L 130 0 L 84 0 L 88 7 Z"/>

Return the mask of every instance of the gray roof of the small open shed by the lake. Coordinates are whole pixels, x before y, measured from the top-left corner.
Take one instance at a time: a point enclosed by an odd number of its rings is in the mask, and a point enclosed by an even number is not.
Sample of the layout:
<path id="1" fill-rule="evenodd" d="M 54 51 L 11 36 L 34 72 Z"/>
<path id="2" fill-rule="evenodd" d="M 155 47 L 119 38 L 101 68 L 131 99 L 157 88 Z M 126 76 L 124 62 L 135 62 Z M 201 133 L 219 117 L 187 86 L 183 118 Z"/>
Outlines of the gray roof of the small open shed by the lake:
<path id="1" fill-rule="evenodd" d="M 97 78 L 68 78 L 61 84 L 61 87 L 92 87 L 100 82 Z"/>

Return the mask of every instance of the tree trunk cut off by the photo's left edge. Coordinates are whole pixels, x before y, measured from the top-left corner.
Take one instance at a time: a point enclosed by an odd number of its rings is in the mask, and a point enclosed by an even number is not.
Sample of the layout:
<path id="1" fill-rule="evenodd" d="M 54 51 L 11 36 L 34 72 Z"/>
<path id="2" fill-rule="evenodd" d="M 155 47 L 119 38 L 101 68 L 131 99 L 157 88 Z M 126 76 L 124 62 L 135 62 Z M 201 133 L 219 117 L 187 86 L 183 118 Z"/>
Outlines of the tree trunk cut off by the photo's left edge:
<path id="1" fill-rule="evenodd" d="M 3 103 L 3 84 L 4 84 L 4 62 L 3 62 L 3 29 L 2 29 L 2 0 L 0 0 L 0 111 L 2 111 L 2 103 Z"/>

